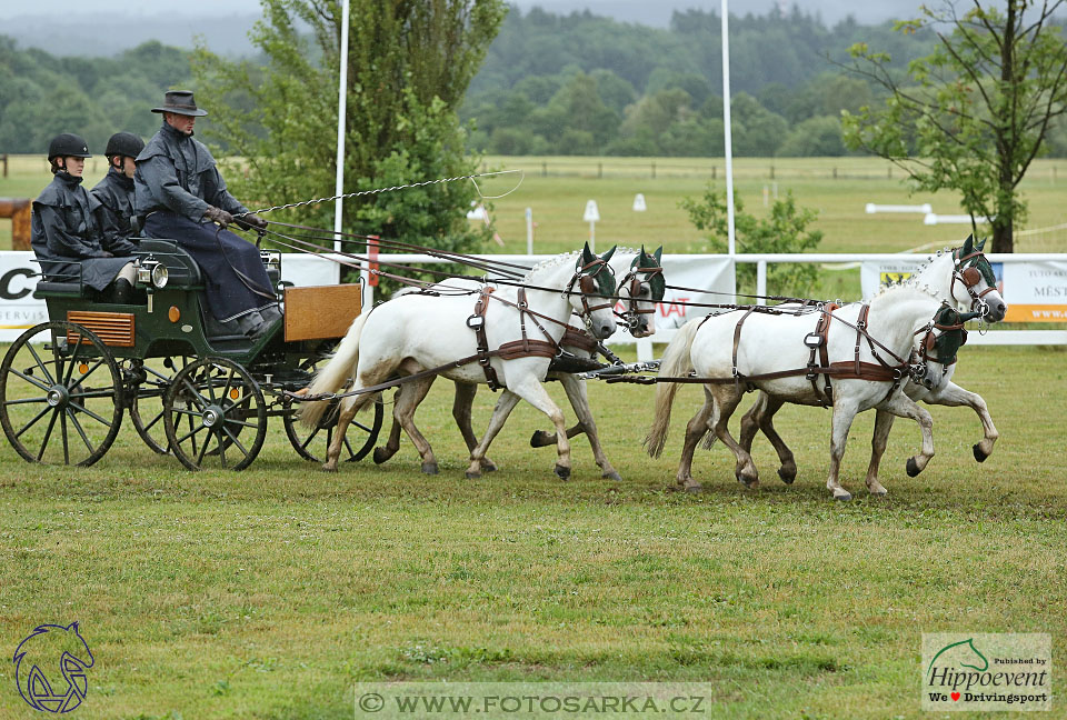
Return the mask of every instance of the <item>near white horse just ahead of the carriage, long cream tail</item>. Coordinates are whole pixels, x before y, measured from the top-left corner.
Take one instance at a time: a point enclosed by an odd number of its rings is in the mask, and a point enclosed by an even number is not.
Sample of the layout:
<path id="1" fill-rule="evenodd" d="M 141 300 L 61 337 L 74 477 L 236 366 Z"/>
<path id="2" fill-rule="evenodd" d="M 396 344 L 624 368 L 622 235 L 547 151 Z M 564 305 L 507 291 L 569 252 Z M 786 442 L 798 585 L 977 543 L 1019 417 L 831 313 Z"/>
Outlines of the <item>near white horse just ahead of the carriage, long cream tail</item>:
<path id="1" fill-rule="evenodd" d="M 614 248 L 601 257 L 589 250 L 558 256 L 537 264 L 521 280 L 522 287 L 487 288 L 479 296 L 406 294 L 360 314 L 338 346 L 333 358 L 319 371 L 308 394 L 332 393 L 351 382 L 352 394 L 341 400 L 337 432 L 327 451 L 326 470 L 336 471 L 345 431 L 356 413 L 369 404 L 375 388 L 392 378 L 431 374 L 401 382 L 393 408 L 403 430 L 422 458 L 425 471 L 432 471 L 437 459 L 426 438 L 415 427 L 415 409 L 426 397 L 435 374 L 463 383 L 490 382 L 489 376 L 505 388 L 489 428 L 470 453 L 467 477 L 481 473 L 481 460 L 508 414 L 520 399 L 542 411 L 557 429 L 556 474 L 570 476 L 570 444 L 564 430 L 564 413 L 542 387 L 554 348 L 564 334 L 567 320 L 577 312 L 589 332 L 599 339 L 616 329 L 612 302 L 597 302 L 615 296 L 615 278 L 607 269 Z M 479 299 L 482 312 L 476 310 Z M 590 301 L 592 304 L 590 306 Z M 483 328 L 486 346 L 478 347 L 476 328 Z M 530 354 L 506 343 L 540 344 Z M 546 354 L 546 348 L 548 348 Z M 480 360 L 472 360 L 480 356 Z M 462 362 L 467 360 L 466 362 Z M 486 369 L 488 368 L 488 370 Z M 301 420 L 315 427 L 328 408 L 328 401 L 305 402 Z"/>

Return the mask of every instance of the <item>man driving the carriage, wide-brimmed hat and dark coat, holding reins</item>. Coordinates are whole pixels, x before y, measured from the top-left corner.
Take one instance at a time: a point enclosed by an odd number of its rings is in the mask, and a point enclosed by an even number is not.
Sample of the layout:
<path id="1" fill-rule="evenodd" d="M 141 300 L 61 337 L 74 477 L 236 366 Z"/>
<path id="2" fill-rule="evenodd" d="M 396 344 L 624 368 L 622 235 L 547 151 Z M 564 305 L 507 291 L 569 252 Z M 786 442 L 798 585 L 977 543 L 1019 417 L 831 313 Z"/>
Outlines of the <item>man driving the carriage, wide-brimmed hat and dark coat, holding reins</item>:
<path id="1" fill-rule="evenodd" d="M 152 112 L 163 114 L 163 124 L 138 154 L 133 174 L 144 236 L 173 239 L 196 259 L 216 320 L 253 338 L 266 334 L 281 319 L 267 269 L 259 249 L 226 228 L 260 230 L 267 221 L 227 191 L 211 152 L 192 138 L 197 118 L 208 113 L 191 92 L 168 92 Z"/>

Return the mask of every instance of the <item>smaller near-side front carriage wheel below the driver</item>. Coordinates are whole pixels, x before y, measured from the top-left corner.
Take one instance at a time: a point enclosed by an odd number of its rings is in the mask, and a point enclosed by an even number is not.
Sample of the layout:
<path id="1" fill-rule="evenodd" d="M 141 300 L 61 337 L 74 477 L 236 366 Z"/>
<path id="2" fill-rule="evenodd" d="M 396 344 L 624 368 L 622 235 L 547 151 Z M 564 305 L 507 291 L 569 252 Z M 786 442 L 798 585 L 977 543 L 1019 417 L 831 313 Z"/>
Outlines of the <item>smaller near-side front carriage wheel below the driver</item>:
<path id="1" fill-rule="evenodd" d="M 243 470 L 263 447 L 267 402 L 245 368 L 206 358 L 174 376 L 163 396 L 163 423 L 171 452 L 190 470 Z"/>

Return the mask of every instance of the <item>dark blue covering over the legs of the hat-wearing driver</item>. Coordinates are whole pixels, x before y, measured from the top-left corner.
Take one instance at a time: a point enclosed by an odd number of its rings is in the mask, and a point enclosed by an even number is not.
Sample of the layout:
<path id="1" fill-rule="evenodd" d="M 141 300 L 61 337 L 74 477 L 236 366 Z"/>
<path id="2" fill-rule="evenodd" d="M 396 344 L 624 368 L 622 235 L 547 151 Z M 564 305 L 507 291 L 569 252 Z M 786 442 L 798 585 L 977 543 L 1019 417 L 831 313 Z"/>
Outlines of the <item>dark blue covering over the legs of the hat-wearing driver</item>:
<path id="1" fill-rule="evenodd" d="M 192 256 L 205 277 L 208 309 L 219 322 L 275 304 L 259 248 L 229 230 L 156 211 L 144 219 L 144 234 L 174 240 Z"/>

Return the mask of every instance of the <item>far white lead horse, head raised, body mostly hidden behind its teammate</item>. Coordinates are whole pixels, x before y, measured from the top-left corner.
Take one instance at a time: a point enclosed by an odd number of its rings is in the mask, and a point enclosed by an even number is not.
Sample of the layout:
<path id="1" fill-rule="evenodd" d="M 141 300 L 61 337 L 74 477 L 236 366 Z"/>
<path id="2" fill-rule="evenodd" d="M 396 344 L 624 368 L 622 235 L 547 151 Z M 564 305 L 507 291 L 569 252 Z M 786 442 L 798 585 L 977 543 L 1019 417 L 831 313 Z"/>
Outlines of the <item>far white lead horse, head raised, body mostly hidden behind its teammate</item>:
<path id="1" fill-rule="evenodd" d="M 968 238 L 963 248 L 938 253 L 936 259 L 909 279 L 909 284 L 928 288 L 936 297 L 941 298 L 951 307 L 938 311 L 938 324 L 943 327 L 930 329 L 929 337 L 936 349 L 928 350 L 923 347 L 921 343 L 927 337 L 926 333 L 916 337 L 915 351 L 925 359 L 923 363 L 924 374 L 919 381 L 908 378 L 904 384 L 904 392 L 916 402 L 949 407 L 967 406 L 975 411 L 981 422 L 984 432 L 983 440 L 973 448 L 975 459 L 978 462 L 985 462 L 986 458 L 993 454 L 993 446 L 1000 436 L 993 423 L 993 417 L 989 414 L 989 409 L 983 397 L 951 382 L 951 377 L 956 370 L 956 350 L 953 348 L 954 346 L 958 348 L 959 344 L 966 342 L 966 331 L 960 323 L 976 317 L 997 322 L 1004 319 L 1007 310 L 1004 299 L 996 289 L 993 267 L 981 254 L 984 246 L 984 241 L 974 244 L 973 240 Z M 958 258 L 965 259 L 960 261 Z M 964 308 L 968 311 L 959 314 L 959 311 Z M 950 314 L 951 312 L 957 313 L 955 320 Z M 960 326 L 958 329 L 955 328 L 957 324 Z M 949 354 L 944 357 L 939 354 L 946 352 Z M 940 360 L 944 360 L 944 362 Z M 784 401 L 780 399 L 772 398 L 765 392 L 758 393 L 756 402 L 741 418 L 739 442 L 747 452 L 751 452 L 756 432 L 762 431 L 778 453 L 780 463 L 778 477 L 784 482 L 791 483 L 797 477 L 797 464 L 792 451 L 782 441 L 774 426 L 775 413 L 782 404 Z M 868 487 L 877 483 L 878 468 L 881 456 L 886 450 L 893 420 L 894 416 L 891 413 L 880 410 L 876 413 L 875 431 L 871 439 L 871 459 L 867 470 Z M 910 468 L 911 466 L 909 466 Z"/>

